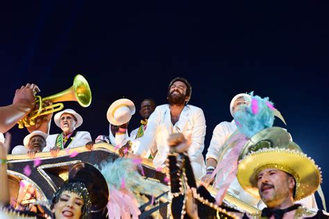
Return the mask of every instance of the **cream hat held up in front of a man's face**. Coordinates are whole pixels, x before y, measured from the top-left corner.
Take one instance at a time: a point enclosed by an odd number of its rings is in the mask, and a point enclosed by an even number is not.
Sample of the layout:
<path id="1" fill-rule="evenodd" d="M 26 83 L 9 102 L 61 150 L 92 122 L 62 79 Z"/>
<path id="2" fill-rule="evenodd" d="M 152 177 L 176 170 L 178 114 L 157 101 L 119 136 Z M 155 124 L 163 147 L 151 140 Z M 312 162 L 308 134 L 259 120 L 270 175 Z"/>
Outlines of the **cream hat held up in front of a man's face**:
<path id="1" fill-rule="evenodd" d="M 106 117 L 108 118 L 108 122 L 112 125 L 122 125 L 130 121 L 135 111 L 136 108 L 133 101 L 122 98 L 110 105 Z"/>

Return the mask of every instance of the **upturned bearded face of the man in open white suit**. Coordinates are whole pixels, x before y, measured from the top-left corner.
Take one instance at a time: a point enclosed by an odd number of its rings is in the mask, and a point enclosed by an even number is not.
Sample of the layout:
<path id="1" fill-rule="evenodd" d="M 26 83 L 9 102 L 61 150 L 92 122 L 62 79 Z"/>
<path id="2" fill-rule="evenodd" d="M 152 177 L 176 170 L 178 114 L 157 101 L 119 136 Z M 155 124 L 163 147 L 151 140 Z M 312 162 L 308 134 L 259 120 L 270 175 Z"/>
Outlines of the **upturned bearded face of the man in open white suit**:
<path id="1" fill-rule="evenodd" d="M 169 87 L 168 100 L 170 105 L 184 105 L 189 100 L 186 95 L 187 86 L 184 82 L 176 81 Z"/>

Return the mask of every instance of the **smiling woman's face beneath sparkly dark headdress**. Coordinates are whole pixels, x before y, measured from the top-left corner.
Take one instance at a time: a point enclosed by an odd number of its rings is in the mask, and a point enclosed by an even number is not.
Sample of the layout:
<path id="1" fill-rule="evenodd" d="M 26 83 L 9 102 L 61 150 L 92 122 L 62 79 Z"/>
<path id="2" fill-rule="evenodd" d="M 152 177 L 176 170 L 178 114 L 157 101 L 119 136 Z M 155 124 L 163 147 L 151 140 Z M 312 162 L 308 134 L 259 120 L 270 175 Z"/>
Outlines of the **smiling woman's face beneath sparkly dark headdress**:
<path id="1" fill-rule="evenodd" d="M 71 191 L 63 191 L 58 202 L 53 207 L 56 218 L 81 218 L 83 199 Z"/>

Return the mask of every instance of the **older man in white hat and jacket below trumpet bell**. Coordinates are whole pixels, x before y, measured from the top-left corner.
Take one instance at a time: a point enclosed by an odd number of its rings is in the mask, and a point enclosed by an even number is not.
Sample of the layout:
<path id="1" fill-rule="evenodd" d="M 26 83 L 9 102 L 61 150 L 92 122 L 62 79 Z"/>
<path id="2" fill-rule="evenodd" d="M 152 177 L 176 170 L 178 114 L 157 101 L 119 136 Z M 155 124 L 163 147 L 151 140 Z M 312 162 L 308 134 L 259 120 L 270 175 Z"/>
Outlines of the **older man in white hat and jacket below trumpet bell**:
<path id="1" fill-rule="evenodd" d="M 80 114 L 73 109 L 65 109 L 55 114 L 55 124 L 62 130 L 60 134 L 50 134 L 47 137 L 47 146 L 44 151 L 52 152 L 53 156 L 57 155 L 59 150 L 65 148 L 76 148 L 79 146 L 85 146 L 92 141 L 92 137 L 89 132 L 77 131 L 83 123 L 83 118 Z"/>

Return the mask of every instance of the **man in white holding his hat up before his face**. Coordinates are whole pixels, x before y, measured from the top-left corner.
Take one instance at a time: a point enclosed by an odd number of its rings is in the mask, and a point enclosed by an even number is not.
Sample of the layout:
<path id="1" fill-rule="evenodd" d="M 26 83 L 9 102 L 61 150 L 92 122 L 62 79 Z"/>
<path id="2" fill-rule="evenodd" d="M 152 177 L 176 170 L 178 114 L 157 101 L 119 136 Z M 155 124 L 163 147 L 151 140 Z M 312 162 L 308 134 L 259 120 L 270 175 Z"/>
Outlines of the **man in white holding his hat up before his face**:
<path id="1" fill-rule="evenodd" d="M 115 100 L 106 113 L 108 122 L 110 123 L 109 135 L 99 135 L 95 142 L 106 142 L 112 146 L 121 147 L 130 139 L 128 137 L 128 123 L 131 116 L 135 114 L 135 105 L 133 101 L 127 98 Z"/>

